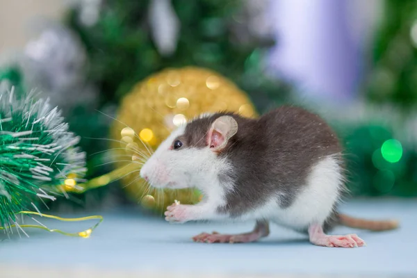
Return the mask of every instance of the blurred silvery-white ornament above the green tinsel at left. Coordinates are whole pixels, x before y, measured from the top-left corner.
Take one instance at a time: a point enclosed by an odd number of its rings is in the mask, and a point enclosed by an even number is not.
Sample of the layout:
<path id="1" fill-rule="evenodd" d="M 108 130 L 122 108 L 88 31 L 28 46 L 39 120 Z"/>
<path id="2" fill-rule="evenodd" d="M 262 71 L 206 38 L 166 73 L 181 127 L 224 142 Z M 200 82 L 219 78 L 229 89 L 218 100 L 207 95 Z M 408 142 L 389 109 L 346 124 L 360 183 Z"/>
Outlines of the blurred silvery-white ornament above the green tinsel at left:
<path id="1" fill-rule="evenodd" d="M 66 115 L 74 106 L 92 106 L 97 90 L 88 83 L 87 55 L 79 38 L 63 26 L 49 26 L 29 42 L 22 57 L 22 70 L 30 88 L 48 97 Z"/>

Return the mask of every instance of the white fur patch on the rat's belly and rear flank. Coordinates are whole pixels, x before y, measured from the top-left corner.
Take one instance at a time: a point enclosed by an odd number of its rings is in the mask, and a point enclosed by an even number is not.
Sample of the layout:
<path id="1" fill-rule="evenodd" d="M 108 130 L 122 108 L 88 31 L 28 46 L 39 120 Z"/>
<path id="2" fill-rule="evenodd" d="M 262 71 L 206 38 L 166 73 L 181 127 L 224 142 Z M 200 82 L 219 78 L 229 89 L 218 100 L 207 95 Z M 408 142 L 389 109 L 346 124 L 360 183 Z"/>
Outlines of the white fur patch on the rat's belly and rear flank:
<path id="1" fill-rule="evenodd" d="M 288 208 L 280 208 L 277 196 L 247 213 L 243 220 L 268 219 L 277 224 L 295 229 L 306 228 L 311 223 L 322 224 L 329 217 L 338 201 L 343 174 L 336 156 L 327 156 L 313 167 L 308 184 Z"/>

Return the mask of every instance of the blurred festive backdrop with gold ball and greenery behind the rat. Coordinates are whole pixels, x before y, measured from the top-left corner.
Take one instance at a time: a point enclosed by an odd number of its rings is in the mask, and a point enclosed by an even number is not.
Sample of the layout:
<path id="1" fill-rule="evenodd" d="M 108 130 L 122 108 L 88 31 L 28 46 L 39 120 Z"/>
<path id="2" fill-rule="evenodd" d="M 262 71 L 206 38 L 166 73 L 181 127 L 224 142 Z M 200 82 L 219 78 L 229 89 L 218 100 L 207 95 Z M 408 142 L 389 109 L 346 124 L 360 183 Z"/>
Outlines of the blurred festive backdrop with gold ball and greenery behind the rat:
<path id="1" fill-rule="evenodd" d="M 158 217 L 174 199 L 198 202 L 194 191 L 149 191 L 133 172 L 135 152 L 156 149 L 199 113 L 256 117 L 281 104 L 332 124 L 346 148 L 352 195 L 417 196 L 414 0 L 0 0 L 0 7 L 0 79 L 18 93 L 49 97 L 87 153 L 85 192 L 66 182 L 70 197 L 53 210 L 138 204 Z"/>

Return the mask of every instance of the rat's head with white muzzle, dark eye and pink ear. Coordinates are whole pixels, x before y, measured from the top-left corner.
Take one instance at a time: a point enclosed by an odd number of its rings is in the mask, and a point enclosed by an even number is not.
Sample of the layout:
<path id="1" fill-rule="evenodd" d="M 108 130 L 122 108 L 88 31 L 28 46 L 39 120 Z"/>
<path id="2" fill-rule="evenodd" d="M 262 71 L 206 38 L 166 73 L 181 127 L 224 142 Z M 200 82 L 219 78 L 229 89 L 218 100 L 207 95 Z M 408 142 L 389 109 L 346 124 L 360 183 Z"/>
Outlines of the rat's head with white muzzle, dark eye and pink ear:
<path id="1" fill-rule="evenodd" d="M 159 145 L 140 170 L 140 177 L 156 188 L 199 186 L 199 181 L 217 177 L 224 166 L 218 154 L 237 131 L 238 124 L 231 114 L 188 122 Z"/>

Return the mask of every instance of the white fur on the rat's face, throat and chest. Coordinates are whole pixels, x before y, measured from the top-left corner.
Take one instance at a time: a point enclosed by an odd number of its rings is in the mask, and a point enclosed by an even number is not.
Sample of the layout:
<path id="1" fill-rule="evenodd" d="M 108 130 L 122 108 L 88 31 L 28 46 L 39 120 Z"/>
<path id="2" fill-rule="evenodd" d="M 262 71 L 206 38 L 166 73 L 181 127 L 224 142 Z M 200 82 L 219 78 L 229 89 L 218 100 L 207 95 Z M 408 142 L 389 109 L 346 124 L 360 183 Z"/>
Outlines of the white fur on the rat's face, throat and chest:
<path id="1" fill-rule="evenodd" d="M 159 145 L 156 152 L 143 165 L 140 175 L 147 176 L 156 188 L 196 187 L 204 194 L 202 202 L 195 210 L 202 220 L 224 218 L 216 213 L 219 206 L 226 204 L 225 195 L 231 185 L 220 184 L 218 174 L 231 170 L 225 158 L 219 158 L 209 147 L 184 147 L 172 150 L 170 146 L 175 138 L 181 136 L 186 126 L 181 126 Z"/>

